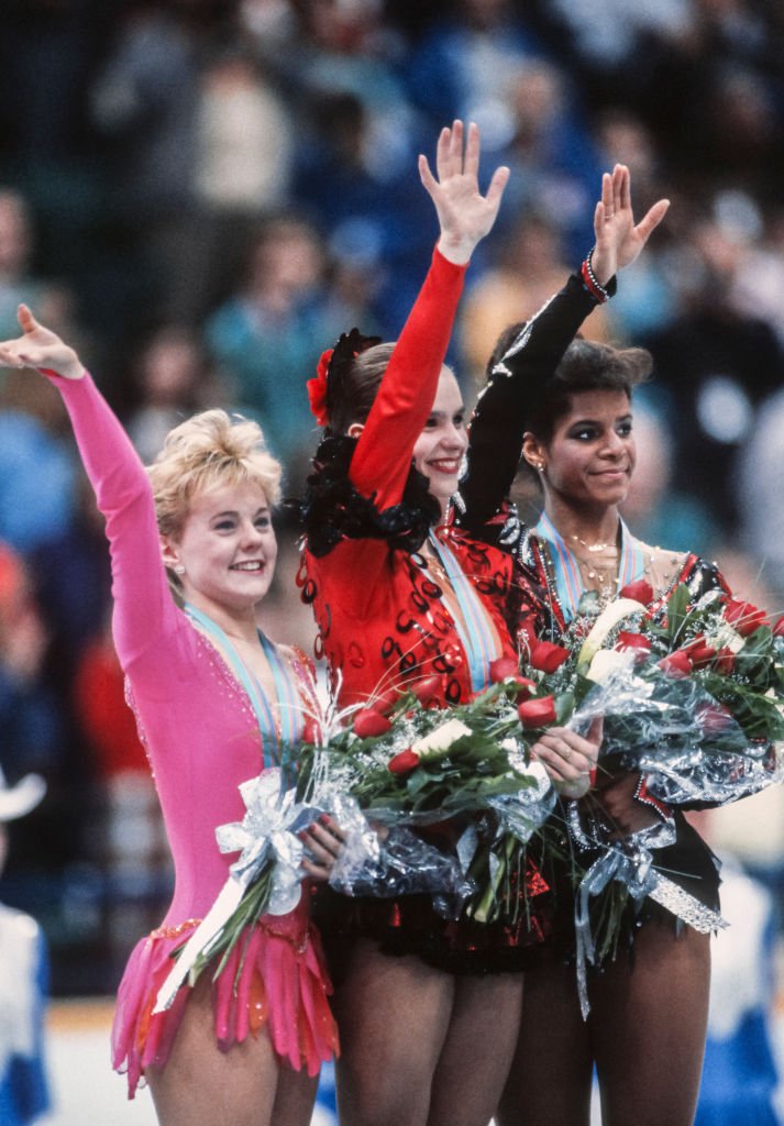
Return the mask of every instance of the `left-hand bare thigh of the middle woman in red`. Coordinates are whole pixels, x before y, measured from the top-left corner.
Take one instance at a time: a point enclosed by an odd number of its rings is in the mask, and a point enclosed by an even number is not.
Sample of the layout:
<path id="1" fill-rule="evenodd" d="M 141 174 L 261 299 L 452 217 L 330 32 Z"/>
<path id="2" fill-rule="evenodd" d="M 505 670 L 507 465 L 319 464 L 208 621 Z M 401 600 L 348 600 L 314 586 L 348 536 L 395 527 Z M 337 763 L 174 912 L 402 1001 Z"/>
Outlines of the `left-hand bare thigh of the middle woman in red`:
<path id="1" fill-rule="evenodd" d="M 341 1126 L 425 1126 L 453 995 L 451 974 L 357 941 L 333 1003 Z"/>

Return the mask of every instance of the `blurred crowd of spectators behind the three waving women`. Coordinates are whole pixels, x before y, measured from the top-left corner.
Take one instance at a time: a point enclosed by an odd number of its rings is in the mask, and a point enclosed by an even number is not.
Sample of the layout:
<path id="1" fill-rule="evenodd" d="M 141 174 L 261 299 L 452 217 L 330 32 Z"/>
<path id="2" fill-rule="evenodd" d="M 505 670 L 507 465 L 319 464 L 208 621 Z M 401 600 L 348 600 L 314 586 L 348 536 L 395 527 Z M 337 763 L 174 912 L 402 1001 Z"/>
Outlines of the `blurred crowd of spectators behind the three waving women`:
<path id="1" fill-rule="evenodd" d="M 773 0 L 3 0 L 0 339 L 16 307 L 73 342 L 151 459 L 223 405 L 296 495 L 304 384 L 358 325 L 394 339 L 436 238 L 417 154 L 454 117 L 511 181 L 451 361 L 472 402 L 498 332 L 591 245 L 600 173 L 672 206 L 587 334 L 642 345 L 626 506 L 784 610 L 784 6 Z M 524 511 L 535 495 L 518 485 Z M 295 520 L 265 625 L 312 644 Z M 2 899 L 34 914 L 55 997 L 112 993 L 170 869 L 108 636 L 108 558 L 59 396 L 0 376 L 0 765 L 43 774 Z M 769 896 L 777 794 L 707 823 Z M 748 811 L 751 810 L 751 813 Z M 767 918 L 767 915 L 766 915 Z M 732 992 L 732 991 L 730 991 Z"/>

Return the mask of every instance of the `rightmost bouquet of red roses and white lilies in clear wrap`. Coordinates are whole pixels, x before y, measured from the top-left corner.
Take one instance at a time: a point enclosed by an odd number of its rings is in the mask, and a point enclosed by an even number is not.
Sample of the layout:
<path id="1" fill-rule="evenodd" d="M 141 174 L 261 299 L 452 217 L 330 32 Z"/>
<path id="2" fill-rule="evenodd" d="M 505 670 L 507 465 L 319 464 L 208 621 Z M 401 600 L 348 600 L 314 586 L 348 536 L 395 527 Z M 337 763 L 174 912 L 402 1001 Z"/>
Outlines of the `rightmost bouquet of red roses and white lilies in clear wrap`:
<path id="1" fill-rule="evenodd" d="M 654 797 L 720 805 L 781 780 L 781 620 L 721 591 L 692 602 L 685 586 L 654 604 L 641 581 L 554 649 L 549 690 L 577 722 L 605 716 L 600 761 L 645 774 Z"/>

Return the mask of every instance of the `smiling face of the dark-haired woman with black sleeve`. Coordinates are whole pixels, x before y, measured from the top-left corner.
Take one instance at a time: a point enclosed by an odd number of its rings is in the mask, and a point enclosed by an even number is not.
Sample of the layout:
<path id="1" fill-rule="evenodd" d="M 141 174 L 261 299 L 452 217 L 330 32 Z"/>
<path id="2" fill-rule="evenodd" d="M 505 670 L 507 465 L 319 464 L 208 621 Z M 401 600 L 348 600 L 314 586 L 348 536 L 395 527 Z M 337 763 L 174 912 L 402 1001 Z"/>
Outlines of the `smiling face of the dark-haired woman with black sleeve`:
<path id="1" fill-rule="evenodd" d="M 526 435 L 524 452 L 544 465 L 550 499 L 594 511 L 620 504 L 634 472 L 634 438 L 624 391 L 578 391 L 545 445 Z"/>

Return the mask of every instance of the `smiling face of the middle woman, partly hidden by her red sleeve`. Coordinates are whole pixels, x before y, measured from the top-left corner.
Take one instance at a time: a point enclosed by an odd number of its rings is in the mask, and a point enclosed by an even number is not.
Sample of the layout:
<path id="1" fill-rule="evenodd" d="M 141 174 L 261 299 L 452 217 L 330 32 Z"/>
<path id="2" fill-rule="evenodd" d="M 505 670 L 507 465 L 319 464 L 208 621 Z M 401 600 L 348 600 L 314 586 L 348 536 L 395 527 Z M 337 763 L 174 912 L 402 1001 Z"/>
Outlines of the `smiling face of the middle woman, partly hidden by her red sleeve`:
<path id="1" fill-rule="evenodd" d="M 467 444 L 463 396 L 452 372 L 443 367 L 430 415 L 413 446 L 413 464 L 429 480 L 444 512 L 457 489 Z"/>

